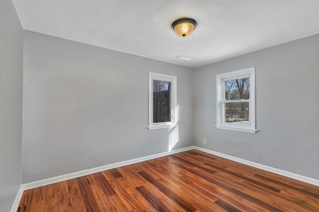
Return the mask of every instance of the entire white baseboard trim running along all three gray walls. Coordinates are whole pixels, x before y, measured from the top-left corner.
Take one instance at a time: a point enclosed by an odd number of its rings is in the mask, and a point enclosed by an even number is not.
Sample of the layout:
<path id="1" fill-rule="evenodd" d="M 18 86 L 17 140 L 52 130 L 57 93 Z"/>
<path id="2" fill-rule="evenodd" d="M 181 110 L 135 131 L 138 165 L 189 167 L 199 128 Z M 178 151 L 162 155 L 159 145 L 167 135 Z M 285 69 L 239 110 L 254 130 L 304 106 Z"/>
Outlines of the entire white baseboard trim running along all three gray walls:
<path id="1" fill-rule="evenodd" d="M 175 154 L 175 153 L 178 153 L 178 152 L 184 152 L 184 151 L 191 150 L 191 149 L 197 149 L 197 150 L 202 151 L 202 152 L 206 152 L 206 153 L 209 153 L 209 154 L 212 154 L 212 155 L 220 156 L 220 157 L 232 160 L 232 161 L 243 163 L 243 164 L 246 164 L 246 165 L 249 165 L 249 166 L 253 166 L 253 167 L 265 170 L 265 171 L 269 171 L 269 172 L 272 172 L 272 173 L 275 173 L 275 174 L 283 175 L 283 176 L 286 176 L 286 177 L 289 177 L 289 178 L 293 178 L 295 180 L 299 180 L 299 181 L 302 181 L 302 182 L 305 182 L 305 183 L 309 183 L 309 184 L 312 184 L 312 185 L 315 185 L 315 186 L 319 186 L 319 180 L 316 180 L 316 179 L 313 179 L 313 178 L 309 178 L 309 177 L 305 177 L 305 176 L 302 176 L 302 175 L 294 174 L 294 173 L 287 172 L 287 171 L 284 171 L 284 170 L 281 170 L 281 169 L 276 169 L 276 168 L 273 168 L 273 167 L 270 167 L 270 166 L 265 166 L 265 165 L 262 165 L 262 164 L 259 164 L 259 163 L 255 163 L 255 162 L 252 162 L 252 161 L 248 161 L 248 160 L 244 160 L 244 159 L 241 159 L 241 158 L 236 158 L 236 157 L 233 157 L 233 156 L 230 156 L 230 155 L 226 155 L 226 154 L 223 154 L 223 153 L 219 153 L 219 152 L 215 152 L 215 151 L 212 151 L 212 150 L 204 149 L 204 148 L 201 148 L 201 147 L 190 146 L 190 147 L 186 147 L 186 148 L 176 149 L 176 150 L 172 150 L 172 151 L 168 151 L 168 152 L 162 152 L 162 153 L 159 153 L 159 154 L 149 155 L 149 156 L 145 156 L 145 157 L 141 157 L 141 158 L 127 160 L 127 161 L 123 161 L 123 162 L 119 162 L 119 163 L 113 163 L 113 164 L 109 164 L 109 165 L 105 165 L 105 166 L 100 166 L 100 167 L 96 167 L 96 168 L 92 168 L 92 169 L 87 169 L 87 170 L 83 170 L 83 171 L 79 171 L 79 172 L 73 172 L 73 173 L 70 173 L 70 174 L 65 174 L 65 175 L 56 176 L 56 177 L 52 177 L 52 178 L 48 178 L 48 179 L 44 179 L 44 180 L 39 180 L 39 181 L 31 182 L 31 183 L 22 184 L 20 186 L 20 189 L 19 189 L 19 191 L 18 191 L 18 193 L 16 195 L 16 198 L 15 198 L 15 200 L 13 202 L 13 205 L 12 205 L 12 208 L 11 208 L 10 212 L 16 212 L 17 211 L 19 203 L 20 203 L 20 200 L 21 200 L 21 197 L 22 197 L 22 194 L 23 194 L 23 191 L 25 191 L 25 190 L 29 190 L 29 189 L 33 189 L 33 188 L 37 188 L 37 187 L 41 187 L 41 186 L 46 186 L 46 185 L 49 185 L 49 184 L 52 184 L 52 183 L 58 183 L 58 182 L 61 182 L 61 181 L 70 180 L 70 179 L 73 179 L 73 178 L 78 178 L 78 177 L 82 177 L 82 176 L 85 176 L 85 175 L 90 175 L 90 174 L 94 174 L 94 173 L 97 173 L 97 172 L 102 172 L 102 171 L 109 170 L 109 169 L 114 169 L 114 168 L 121 167 L 121 166 L 126 166 L 126 165 L 130 165 L 130 164 L 134 164 L 134 163 L 139 163 L 139 162 L 142 162 L 142 161 L 163 157 L 163 156 Z"/>

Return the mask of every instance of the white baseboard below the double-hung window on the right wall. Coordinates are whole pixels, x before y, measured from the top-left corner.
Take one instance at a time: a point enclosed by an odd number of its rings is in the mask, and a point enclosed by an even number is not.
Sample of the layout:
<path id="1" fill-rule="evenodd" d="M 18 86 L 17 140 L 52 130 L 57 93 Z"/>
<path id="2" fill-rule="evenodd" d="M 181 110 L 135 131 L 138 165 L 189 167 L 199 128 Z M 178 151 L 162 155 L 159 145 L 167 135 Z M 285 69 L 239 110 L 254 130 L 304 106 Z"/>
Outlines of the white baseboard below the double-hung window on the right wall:
<path id="1" fill-rule="evenodd" d="M 312 184 L 312 185 L 315 185 L 315 186 L 319 186 L 319 180 L 316 180 L 316 179 L 313 179 L 313 178 L 310 178 L 310 177 L 305 177 L 305 176 L 302 176 L 302 175 L 298 175 L 298 174 L 295 174 L 295 173 L 287 172 L 287 171 L 284 171 L 284 170 L 281 170 L 281 169 L 276 169 L 276 168 L 273 168 L 273 167 L 270 167 L 270 166 L 265 166 L 265 165 L 262 165 L 262 164 L 259 164 L 259 163 L 255 163 L 255 162 L 252 162 L 252 161 L 244 160 L 244 159 L 241 159 L 241 158 L 236 158 L 236 157 L 233 157 L 233 156 L 230 156 L 230 155 L 226 155 L 226 154 L 223 154 L 223 153 L 219 153 L 219 152 L 215 152 L 215 151 L 212 151 L 212 150 L 204 149 L 204 148 L 201 148 L 201 147 L 198 147 L 198 146 L 194 146 L 194 149 L 197 149 L 199 151 L 206 152 L 206 153 L 209 153 L 209 154 L 212 154 L 212 155 L 217 155 L 217 156 L 220 156 L 220 157 L 232 160 L 232 161 L 243 163 L 243 164 L 246 164 L 246 165 L 249 165 L 249 166 L 253 166 L 253 167 L 256 167 L 258 169 L 269 171 L 269 172 L 272 172 L 272 173 L 275 173 L 275 174 L 279 174 L 279 175 L 283 175 L 283 176 L 286 176 L 286 177 L 289 177 L 289 178 L 293 178 L 295 180 L 299 180 L 299 181 L 302 181 L 302 182 L 305 182 L 305 183 L 309 183 L 309 184 Z"/>

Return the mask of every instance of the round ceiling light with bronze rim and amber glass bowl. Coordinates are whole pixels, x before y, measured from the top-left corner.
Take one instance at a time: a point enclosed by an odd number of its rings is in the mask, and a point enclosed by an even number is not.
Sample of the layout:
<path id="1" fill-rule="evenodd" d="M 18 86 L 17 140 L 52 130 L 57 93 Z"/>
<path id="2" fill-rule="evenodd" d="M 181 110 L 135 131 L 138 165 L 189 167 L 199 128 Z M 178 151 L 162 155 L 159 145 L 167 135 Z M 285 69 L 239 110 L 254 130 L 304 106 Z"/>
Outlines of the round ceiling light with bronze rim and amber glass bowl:
<path id="1" fill-rule="evenodd" d="M 171 28 L 173 28 L 176 35 L 180 37 L 187 37 L 190 35 L 196 26 L 197 22 L 191 18 L 180 18 L 171 24 Z"/>

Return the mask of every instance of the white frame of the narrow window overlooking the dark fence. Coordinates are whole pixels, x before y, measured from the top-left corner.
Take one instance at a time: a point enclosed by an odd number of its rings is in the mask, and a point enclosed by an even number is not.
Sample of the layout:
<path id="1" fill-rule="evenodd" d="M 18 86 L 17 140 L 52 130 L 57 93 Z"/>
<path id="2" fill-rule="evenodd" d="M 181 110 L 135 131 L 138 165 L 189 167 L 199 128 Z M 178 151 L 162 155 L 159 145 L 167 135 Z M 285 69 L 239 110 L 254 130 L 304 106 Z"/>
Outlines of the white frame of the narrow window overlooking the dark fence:
<path id="1" fill-rule="evenodd" d="M 164 81 L 170 83 L 170 120 L 166 122 L 153 122 L 153 81 Z M 177 120 L 177 77 L 165 74 L 149 72 L 149 130 L 173 128 L 178 124 Z"/>

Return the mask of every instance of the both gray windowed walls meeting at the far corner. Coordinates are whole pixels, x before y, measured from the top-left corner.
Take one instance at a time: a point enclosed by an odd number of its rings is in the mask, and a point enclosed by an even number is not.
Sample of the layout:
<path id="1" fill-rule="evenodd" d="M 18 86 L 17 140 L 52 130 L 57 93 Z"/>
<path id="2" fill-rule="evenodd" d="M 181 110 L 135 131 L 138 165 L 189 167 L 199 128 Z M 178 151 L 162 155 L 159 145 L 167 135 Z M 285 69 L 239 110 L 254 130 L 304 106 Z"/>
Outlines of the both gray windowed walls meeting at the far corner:
<path id="1" fill-rule="evenodd" d="M 319 179 L 318 58 L 314 35 L 193 72 L 25 31 L 22 182 L 191 146 L 193 139 L 197 146 Z M 217 130 L 216 74 L 249 67 L 256 67 L 259 131 Z M 177 76 L 177 129 L 146 129 L 149 71 Z"/>

